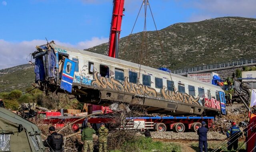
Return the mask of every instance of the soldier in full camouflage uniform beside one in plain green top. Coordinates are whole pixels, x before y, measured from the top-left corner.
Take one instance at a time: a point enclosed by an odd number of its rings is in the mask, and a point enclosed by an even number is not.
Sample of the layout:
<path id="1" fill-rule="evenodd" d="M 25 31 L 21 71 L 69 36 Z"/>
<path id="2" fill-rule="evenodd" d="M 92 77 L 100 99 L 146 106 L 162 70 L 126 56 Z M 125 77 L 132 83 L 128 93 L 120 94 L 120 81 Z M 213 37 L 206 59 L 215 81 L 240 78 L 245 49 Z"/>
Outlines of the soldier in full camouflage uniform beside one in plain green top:
<path id="1" fill-rule="evenodd" d="M 105 124 L 100 123 L 100 128 L 98 129 L 98 140 L 99 140 L 99 152 L 107 152 L 107 143 L 108 143 L 108 128 L 105 127 Z"/>

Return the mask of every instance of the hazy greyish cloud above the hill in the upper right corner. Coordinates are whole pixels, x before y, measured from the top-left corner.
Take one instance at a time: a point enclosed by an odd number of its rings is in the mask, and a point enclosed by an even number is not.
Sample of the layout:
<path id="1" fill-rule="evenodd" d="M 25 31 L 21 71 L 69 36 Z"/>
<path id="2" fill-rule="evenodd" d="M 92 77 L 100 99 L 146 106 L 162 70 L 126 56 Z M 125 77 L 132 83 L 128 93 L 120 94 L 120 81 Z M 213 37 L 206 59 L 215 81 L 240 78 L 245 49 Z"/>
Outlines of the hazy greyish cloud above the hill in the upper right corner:
<path id="1" fill-rule="evenodd" d="M 256 18 L 256 0 L 198 0 L 184 6 L 196 10 L 190 16 L 191 22 L 222 16 Z"/>

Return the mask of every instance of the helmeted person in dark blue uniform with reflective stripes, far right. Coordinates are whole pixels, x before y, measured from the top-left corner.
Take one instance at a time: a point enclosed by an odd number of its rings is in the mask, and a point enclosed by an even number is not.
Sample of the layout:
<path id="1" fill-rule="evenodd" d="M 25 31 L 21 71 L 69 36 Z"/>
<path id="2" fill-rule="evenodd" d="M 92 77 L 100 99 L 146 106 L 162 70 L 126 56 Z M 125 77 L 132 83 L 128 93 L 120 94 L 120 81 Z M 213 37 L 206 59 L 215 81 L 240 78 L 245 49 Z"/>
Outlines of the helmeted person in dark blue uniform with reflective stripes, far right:
<path id="1" fill-rule="evenodd" d="M 227 131 L 227 137 L 230 138 L 228 140 L 228 150 L 234 150 L 238 148 L 238 138 L 242 135 L 242 132 L 238 126 L 236 126 L 236 122 L 232 122 L 232 127 Z"/>

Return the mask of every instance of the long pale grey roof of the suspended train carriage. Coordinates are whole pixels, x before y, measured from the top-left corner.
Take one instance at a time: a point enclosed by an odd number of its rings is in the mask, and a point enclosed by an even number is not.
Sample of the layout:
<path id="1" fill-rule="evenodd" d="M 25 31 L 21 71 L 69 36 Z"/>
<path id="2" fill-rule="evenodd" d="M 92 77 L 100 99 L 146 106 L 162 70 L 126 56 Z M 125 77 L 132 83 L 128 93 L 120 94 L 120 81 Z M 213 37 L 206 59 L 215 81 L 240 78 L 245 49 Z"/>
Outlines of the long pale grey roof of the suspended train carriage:
<path id="1" fill-rule="evenodd" d="M 54 42 L 50 42 L 50 46 L 52 48 L 59 48 L 59 49 L 62 49 L 62 50 L 66 50 L 67 54 L 68 54 L 68 52 L 75 52 L 75 53 L 80 53 L 80 54 L 84 54 L 84 55 L 87 55 L 87 56 L 93 56 L 94 58 L 109 60 L 111 62 L 116 62 L 116 63 L 119 63 L 119 64 L 126 64 L 128 66 L 137 67 L 137 68 L 139 68 L 139 65 L 140 65 L 140 64 L 133 63 L 133 62 L 121 60 L 121 59 L 118 59 L 118 58 L 112 58 L 112 57 L 109 57 L 109 56 L 106 56 L 106 55 L 97 54 L 97 53 L 94 53 L 94 52 L 89 52 L 89 51 L 85 51 L 85 50 L 78 50 L 76 48 L 68 48 L 68 47 L 65 47 L 65 46 L 60 46 L 60 45 L 54 44 Z M 151 67 L 148 67 L 148 66 L 143 66 L 143 65 L 141 65 L 141 69 L 152 71 L 152 72 L 157 72 L 157 73 L 161 73 L 161 74 L 169 74 L 169 72 L 166 72 L 166 71 L 163 71 L 163 70 L 158 70 L 156 68 L 151 68 Z M 180 76 L 178 74 L 173 74 L 173 73 L 170 73 L 170 74 L 171 74 L 171 76 L 174 76 L 176 78 L 181 78 L 181 79 L 184 79 L 184 80 L 192 81 L 192 82 L 203 84 L 203 85 L 206 85 L 206 86 L 211 86 L 211 87 L 214 87 L 216 89 L 221 90 L 221 88 L 219 86 L 215 86 L 213 84 L 208 84 L 206 82 L 201 82 L 199 80 L 194 80 L 194 79 L 191 79 L 191 78 L 187 78 L 185 76 Z"/>

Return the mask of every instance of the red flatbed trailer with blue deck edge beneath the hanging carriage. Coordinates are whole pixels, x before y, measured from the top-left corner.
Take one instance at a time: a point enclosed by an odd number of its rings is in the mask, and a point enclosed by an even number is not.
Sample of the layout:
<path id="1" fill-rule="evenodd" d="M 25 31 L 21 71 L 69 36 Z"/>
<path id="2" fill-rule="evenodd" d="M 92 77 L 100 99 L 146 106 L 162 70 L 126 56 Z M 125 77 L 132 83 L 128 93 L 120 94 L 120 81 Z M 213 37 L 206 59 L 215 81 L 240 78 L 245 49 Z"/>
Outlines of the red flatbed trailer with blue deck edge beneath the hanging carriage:
<path id="1" fill-rule="evenodd" d="M 173 130 L 174 132 L 184 132 L 191 130 L 196 132 L 202 126 L 201 122 L 206 122 L 207 126 L 213 127 L 214 117 L 198 117 L 198 116 L 153 116 L 153 117 L 130 117 L 126 118 L 127 122 L 124 129 L 150 129 L 160 132 Z M 90 123 L 97 129 L 101 122 L 110 124 L 114 118 L 91 118 Z"/>

